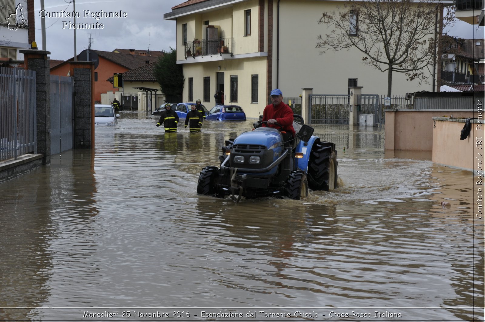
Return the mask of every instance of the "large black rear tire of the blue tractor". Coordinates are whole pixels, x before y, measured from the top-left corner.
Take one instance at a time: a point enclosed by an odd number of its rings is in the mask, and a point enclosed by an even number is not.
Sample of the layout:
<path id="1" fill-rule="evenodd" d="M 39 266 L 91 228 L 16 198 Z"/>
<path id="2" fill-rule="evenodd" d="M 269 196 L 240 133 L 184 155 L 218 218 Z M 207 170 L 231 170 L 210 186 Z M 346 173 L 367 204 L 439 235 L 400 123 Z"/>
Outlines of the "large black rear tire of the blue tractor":
<path id="1" fill-rule="evenodd" d="M 337 151 L 334 145 L 320 142 L 313 145 L 308 161 L 308 186 L 311 190 L 332 191 L 337 188 Z"/>

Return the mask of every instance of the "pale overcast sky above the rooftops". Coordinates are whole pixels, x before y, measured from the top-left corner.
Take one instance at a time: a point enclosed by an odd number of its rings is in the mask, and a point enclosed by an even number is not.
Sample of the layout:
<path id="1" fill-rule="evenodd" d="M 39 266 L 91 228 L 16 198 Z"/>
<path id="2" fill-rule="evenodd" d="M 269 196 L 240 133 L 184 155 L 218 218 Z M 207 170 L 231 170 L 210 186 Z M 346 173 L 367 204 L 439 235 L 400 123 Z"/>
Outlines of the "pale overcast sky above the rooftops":
<path id="1" fill-rule="evenodd" d="M 67 60 L 74 56 L 74 30 L 68 23 L 74 23 L 72 17 L 49 17 L 62 12 L 72 12 L 72 0 L 45 0 L 46 43 L 42 48 L 41 17 L 39 15 L 40 0 L 35 2 L 35 39 L 39 49 L 50 51 L 51 59 Z M 103 29 L 79 29 L 76 31 L 78 54 L 89 45 L 89 38 L 93 39 L 91 48 L 113 51 L 122 49 L 150 49 L 169 51 L 175 48 L 176 22 L 163 20 L 163 14 L 172 11 L 172 7 L 184 0 L 76 0 L 76 23 L 103 24 Z M 126 17 L 84 17 L 84 10 L 91 12 L 126 13 Z M 315 26 L 318 26 L 315 22 Z M 447 31 L 449 35 L 461 38 L 485 38 L 484 27 L 474 27 L 457 20 L 455 25 Z M 149 34 L 149 36 L 148 36 Z M 149 37 L 149 38 L 148 38 Z"/>

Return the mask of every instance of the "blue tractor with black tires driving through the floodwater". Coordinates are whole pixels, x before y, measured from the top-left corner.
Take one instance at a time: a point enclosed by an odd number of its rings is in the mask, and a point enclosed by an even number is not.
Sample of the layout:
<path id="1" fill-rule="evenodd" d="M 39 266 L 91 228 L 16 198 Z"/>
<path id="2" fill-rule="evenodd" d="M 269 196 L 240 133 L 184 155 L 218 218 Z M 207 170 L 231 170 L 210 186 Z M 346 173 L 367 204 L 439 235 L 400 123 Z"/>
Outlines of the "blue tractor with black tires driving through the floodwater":
<path id="1" fill-rule="evenodd" d="M 283 129 L 261 127 L 242 132 L 227 140 L 219 157 L 220 166 L 202 169 L 197 193 L 235 201 L 265 196 L 305 198 L 311 190 L 332 191 L 337 188 L 337 151 L 335 144 L 320 141 L 313 128 L 294 115 L 296 137 L 284 141 Z"/>

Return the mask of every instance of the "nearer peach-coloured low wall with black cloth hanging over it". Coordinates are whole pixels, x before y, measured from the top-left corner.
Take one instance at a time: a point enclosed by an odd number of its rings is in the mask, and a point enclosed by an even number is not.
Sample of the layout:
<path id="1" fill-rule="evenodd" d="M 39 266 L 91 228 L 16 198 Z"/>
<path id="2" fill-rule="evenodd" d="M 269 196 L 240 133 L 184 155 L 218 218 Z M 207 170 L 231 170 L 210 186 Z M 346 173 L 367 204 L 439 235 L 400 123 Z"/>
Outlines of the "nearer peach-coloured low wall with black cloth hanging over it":
<path id="1" fill-rule="evenodd" d="M 460 140 L 465 120 L 435 117 L 434 121 L 432 161 L 483 173 L 483 124 L 472 123 L 468 138 Z"/>

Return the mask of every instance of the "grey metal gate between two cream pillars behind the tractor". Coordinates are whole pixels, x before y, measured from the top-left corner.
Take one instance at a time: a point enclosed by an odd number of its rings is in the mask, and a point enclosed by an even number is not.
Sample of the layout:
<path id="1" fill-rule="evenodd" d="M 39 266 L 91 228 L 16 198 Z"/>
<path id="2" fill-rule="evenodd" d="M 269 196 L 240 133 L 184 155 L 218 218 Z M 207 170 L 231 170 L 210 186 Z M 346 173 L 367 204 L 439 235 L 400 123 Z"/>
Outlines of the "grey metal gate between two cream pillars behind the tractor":
<path id="1" fill-rule="evenodd" d="M 349 124 L 348 94 L 310 95 L 310 119 L 312 124 Z"/>

